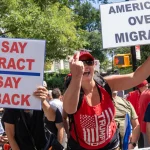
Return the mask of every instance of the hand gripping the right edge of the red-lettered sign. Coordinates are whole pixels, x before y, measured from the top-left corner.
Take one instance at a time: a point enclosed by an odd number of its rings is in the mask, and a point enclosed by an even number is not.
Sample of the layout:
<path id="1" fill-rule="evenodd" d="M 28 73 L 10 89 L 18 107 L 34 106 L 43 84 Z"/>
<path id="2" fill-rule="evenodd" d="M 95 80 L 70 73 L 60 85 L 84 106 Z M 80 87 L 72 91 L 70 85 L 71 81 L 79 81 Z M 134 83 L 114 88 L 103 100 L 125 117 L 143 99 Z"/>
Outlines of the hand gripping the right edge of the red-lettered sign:
<path id="1" fill-rule="evenodd" d="M 43 86 L 39 86 L 33 95 L 39 98 L 41 101 L 44 101 L 47 98 L 48 90 Z"/>

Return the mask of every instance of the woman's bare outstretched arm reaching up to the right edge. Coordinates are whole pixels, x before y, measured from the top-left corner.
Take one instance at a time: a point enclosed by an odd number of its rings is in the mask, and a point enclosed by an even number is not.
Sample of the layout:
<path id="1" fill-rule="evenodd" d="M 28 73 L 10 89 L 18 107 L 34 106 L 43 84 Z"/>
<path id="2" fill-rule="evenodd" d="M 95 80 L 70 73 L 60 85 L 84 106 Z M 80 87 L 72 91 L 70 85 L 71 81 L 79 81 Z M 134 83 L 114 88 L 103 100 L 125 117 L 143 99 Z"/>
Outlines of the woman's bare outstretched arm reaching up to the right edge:
<path id="1" fill-rule="evenodd" d="M 150 75 L 150 57 L 135 72 L 126 75 L 104 77 L 113 91 L 130 89 L 143 82 Z"/>

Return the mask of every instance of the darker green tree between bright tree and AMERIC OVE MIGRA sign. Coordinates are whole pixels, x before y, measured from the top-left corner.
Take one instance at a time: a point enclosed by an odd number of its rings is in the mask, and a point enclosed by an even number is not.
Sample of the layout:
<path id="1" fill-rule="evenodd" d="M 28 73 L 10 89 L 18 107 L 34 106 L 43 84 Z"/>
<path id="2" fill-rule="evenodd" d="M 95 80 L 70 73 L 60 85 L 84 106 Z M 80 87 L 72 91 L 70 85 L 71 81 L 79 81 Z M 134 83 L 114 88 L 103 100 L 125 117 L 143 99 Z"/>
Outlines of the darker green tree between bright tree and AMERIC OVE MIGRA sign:
<path id="1" fill-rule="evenodd" d="M 92 51 L 93 56 L 100 60 L 107 61 L 106 53 L 102 49 L 102 36 L 100 32 L 100 13 L 94 8 L 90 1 L 81 1 L 74 4 L 73 10 L 80 18 L 79 28 L 88 31 L 86 33 L 86 41 L 88 44 L 86 49 Z M 108 62 L 108 61 L 107 61 Z M 103 64 L 103 63 L 102 63 Z"/>

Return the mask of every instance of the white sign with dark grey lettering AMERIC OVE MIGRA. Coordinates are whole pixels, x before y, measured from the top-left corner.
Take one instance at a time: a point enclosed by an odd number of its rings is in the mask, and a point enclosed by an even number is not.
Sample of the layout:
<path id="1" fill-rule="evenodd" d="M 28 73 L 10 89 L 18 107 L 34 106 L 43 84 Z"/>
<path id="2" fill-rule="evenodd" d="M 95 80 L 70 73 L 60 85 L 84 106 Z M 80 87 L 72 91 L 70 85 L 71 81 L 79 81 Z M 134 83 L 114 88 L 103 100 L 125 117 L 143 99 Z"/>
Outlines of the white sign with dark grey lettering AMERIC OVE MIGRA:
<path id="1" fill-rule="evenodd" d="M 103 48 L 150 43 L 150 0 L 100 5 Z"/>

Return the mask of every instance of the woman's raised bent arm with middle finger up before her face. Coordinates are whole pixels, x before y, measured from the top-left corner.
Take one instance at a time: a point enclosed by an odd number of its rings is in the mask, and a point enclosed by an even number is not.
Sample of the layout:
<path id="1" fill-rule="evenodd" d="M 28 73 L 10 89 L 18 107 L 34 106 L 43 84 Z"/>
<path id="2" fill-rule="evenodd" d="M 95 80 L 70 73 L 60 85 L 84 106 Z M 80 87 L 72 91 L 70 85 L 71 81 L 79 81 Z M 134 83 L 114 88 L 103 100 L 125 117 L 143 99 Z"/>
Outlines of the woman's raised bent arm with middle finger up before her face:
<path id="1" fill-rule="evenodd" d="M 80 53 L 77 53 L 76 57 L 71 58 L 69 61 L 72 79 L 63 96 L 63 108 L 67 114 L 73 114 L 77 111 L 81 81 L 84 73 L 84 65 L 83 62 L 79 61 L 79 55 Z"/>

